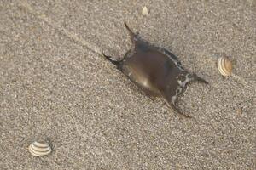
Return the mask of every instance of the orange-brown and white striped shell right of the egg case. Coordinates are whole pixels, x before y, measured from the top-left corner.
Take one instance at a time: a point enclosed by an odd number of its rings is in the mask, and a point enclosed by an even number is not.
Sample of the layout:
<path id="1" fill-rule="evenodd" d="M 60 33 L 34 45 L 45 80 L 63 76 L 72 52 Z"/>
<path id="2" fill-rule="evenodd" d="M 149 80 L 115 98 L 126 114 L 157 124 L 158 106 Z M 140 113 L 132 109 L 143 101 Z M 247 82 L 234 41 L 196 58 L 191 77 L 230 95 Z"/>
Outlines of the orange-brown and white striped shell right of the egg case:
<path id="1" fill-rule="evenodd" d="M 228 59 L 226 57 L 221 57 L 218 59 L 217 65 L 218 65 L 218 71 L 224 77 L 228 77 L 231 75 L 232 63 L 231 63 L 230 59 Z"/>

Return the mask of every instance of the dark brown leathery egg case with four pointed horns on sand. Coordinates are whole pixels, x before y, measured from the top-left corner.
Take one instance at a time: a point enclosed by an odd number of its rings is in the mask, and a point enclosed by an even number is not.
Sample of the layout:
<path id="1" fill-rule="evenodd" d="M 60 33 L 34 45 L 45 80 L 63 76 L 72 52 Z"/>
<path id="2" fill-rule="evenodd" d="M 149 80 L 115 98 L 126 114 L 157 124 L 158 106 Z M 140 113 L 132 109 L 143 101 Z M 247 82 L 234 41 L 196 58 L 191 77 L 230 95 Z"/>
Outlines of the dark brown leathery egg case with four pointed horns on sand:
<path id="1" fill-rule="evenodd" d="M 132 48 L 121 60 L 105 55 L 131 82 L 149 95 L 162 97 L 172 111 L 183 116 L 176 107 L 177 96 L 192 81 L 208 83 L 195 73 L 185 71 L 177 57 L 165 48 L 155 47 L 139 37 L 125 24 L 129 31 Z M 190 117 L 190 116 L 187 116 Z"/>

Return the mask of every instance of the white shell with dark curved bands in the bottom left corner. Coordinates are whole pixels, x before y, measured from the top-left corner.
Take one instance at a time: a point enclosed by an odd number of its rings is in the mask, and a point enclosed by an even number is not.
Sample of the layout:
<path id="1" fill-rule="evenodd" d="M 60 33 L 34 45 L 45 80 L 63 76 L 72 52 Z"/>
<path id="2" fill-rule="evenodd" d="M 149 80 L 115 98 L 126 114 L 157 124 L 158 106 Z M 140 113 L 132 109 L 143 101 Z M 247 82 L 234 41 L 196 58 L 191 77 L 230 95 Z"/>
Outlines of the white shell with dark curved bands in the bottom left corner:
<path id="1" fill-rule="evenodd" d="M 49 144 L 44 141 L 33 142 L 29 145 L 28 150 L 32 156 L 46 156 L 52 151 Z"/>

